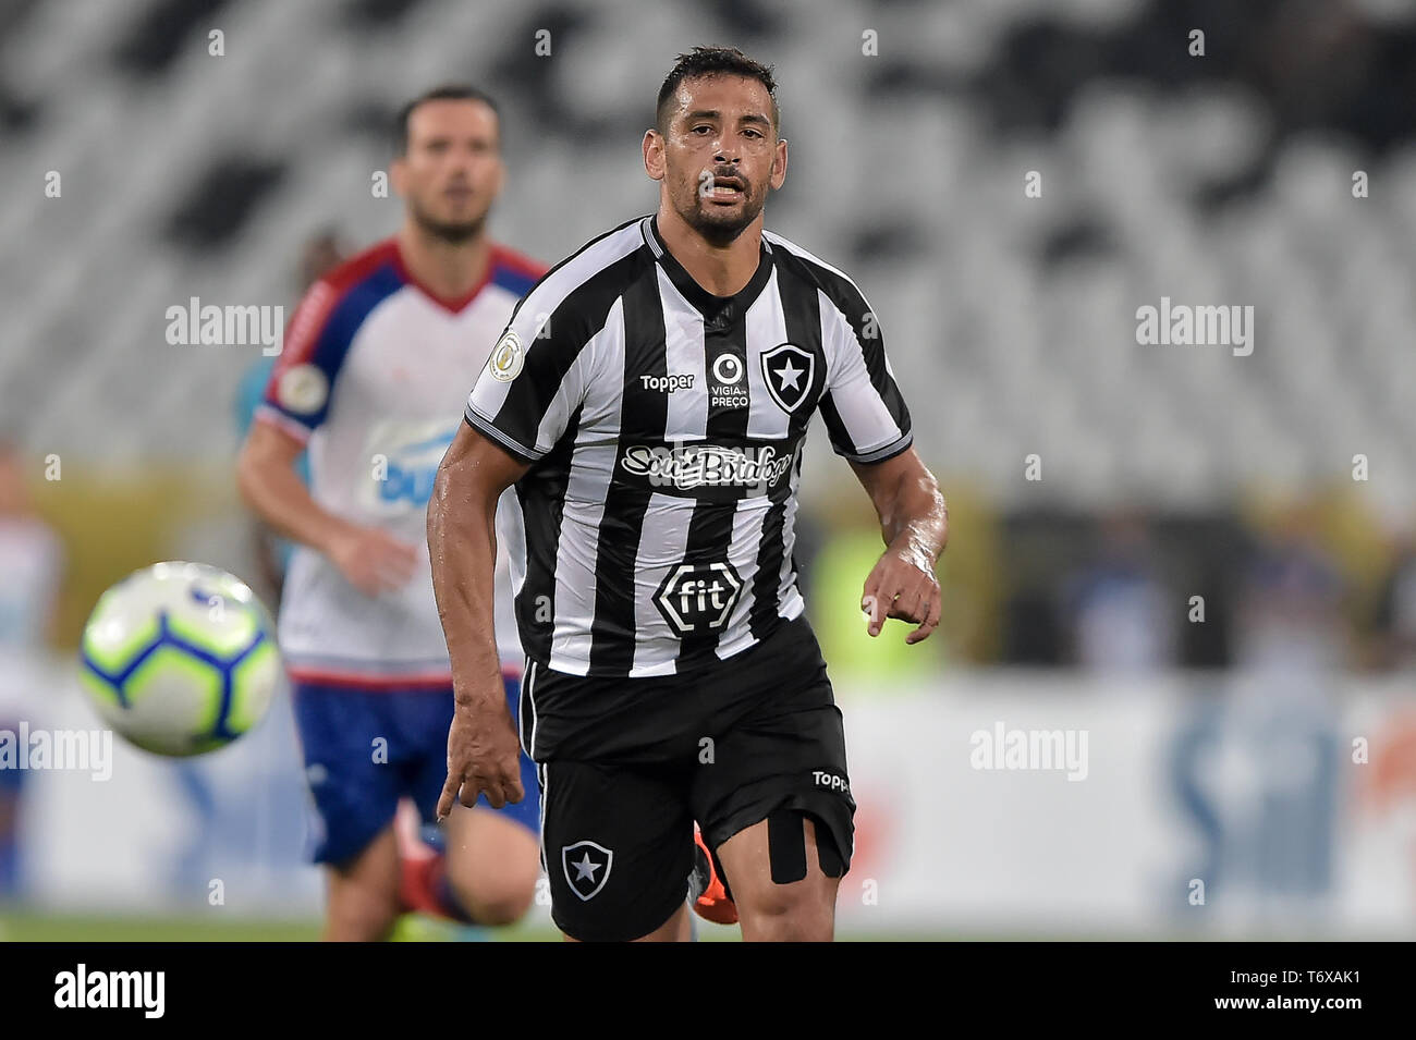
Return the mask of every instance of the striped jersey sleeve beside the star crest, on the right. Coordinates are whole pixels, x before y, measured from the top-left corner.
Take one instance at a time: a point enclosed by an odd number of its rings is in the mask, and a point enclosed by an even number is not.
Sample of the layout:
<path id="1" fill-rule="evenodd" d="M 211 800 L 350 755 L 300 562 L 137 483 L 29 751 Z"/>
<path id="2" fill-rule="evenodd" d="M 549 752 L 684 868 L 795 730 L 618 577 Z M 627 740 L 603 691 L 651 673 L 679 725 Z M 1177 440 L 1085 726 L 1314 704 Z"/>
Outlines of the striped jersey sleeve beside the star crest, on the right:
<path id="1" fill-rule="evenodd" d="M 852 287 L 854 290 L 854 287 Z M 879 463 L 913 443 L 909 409 L 885 357 L 885 340 L 865 297 L 838 306 L 821 297 L 828 372 L 821 396 L 831 447 L 852 463 Z"/>

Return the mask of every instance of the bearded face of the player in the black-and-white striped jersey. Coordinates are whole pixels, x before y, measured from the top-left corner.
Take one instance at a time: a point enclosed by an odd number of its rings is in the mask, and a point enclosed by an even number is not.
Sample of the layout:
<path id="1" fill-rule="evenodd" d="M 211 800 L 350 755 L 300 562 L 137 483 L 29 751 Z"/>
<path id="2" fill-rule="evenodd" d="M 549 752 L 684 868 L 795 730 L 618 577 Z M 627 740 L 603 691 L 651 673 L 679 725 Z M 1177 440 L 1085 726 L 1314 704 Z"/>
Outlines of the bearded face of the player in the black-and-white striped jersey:
<path id="1" fill-rule="evenodd" d="M 767 88 L 733 75 L 685 79 L 646 166 L 688 226 L 709 242 L 732 242 L 786 178 L 787 143 L 772 125 Z"/>

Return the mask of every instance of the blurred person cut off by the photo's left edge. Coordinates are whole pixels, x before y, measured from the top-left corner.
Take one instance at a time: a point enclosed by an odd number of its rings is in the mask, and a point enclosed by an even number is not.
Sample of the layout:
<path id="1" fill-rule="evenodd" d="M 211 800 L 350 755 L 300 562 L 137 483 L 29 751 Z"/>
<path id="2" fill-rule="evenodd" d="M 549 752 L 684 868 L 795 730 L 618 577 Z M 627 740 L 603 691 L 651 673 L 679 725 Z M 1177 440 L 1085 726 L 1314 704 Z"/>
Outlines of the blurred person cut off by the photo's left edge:
<path id="1" fill-rule="evenodd" d="M 64 553 L 34 511 L 20 450 L 0 436 L 0 730 L 42 724 L 44 647 Z M 20 809 L 25 771 L 0 764 L 0 901 L 20 893 Z"/>

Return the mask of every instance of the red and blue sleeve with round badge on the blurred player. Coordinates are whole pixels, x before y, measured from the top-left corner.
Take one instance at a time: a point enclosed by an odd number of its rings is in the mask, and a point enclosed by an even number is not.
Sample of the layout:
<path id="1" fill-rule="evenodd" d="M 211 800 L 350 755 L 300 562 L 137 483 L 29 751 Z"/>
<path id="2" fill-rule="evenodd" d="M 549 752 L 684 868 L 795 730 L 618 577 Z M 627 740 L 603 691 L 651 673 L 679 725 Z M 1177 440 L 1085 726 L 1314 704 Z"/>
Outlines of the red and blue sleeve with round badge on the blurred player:
<path id="1" fill-rule="evenodd" d="M 320 280 L 300 300 L 285 331 L 280 357 L 270 369 L 255 417 L 302 443 L 329 413 L 330 388 L 338 375 L 357 321 L 340 320 L 340 293 Z"/>

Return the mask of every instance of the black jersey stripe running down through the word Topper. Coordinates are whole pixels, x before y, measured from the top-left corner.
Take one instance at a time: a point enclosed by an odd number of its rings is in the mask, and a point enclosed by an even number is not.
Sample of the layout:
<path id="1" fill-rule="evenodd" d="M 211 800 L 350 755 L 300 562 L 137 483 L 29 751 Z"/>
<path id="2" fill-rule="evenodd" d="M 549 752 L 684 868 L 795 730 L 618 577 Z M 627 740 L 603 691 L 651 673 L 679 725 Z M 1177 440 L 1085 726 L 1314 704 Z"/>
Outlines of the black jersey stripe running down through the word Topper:
<path id="1" fill-rule="evenodd" d="M 605 491 L 605 509 L 595 549 L 595 620 L 590 624 L 590 674 L 627 675 L 634 665 L 634 565 L 653 491 L 647 483 L 620 474 L 624 450 L 636 436 L 660 441 L 668 426 L 668 395 L 644 388 L 640 375 L 668 375 L 664 307 L 658 277 L 647 249 L 630 255 L 637 276 L 624 290 L 624 371 L 620 434 L 615 468 Z M 646 270 L 647 267 L 647 270 Z M 610 375 L 610 374 L 607 374 Z M 613 376 L 612 376 L 613 378 Z"/>

